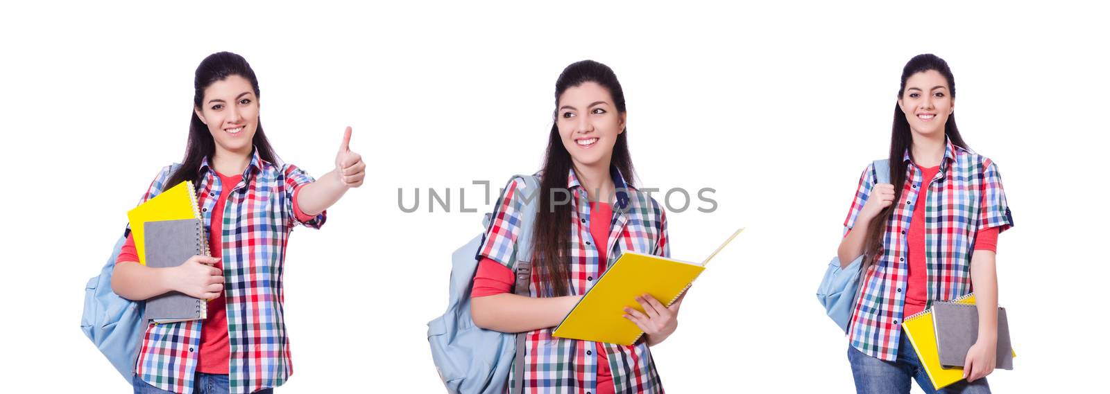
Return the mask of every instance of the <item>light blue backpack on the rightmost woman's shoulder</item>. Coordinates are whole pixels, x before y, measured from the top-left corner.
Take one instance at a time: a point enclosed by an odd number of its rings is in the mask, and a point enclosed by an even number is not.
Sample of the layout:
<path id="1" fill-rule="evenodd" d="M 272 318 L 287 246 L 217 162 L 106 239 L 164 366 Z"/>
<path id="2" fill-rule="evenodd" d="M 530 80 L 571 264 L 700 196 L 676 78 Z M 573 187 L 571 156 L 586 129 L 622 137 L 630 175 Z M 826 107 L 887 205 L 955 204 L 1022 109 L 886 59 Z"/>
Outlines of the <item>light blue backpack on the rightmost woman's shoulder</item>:
<path id="1" fill-rule="evenodd" d="M 889 160 L 875 160 L 875 175 L 880 184 L 890 183 Z M 846 229 L 847 231 L 847 229 Z M 851 260 L 845 268 L 840 268 L 840 259 L 834 257 L 829 261 L 829 267 L 825 270 L 825 278 L 817 287 L 817 301 L 825 307 L 825 313 L 840 325 L 840 330 L 848 332 L 848 322 L 851 320 L 851 312 L 856 309 L 856 299 L 859 298 L 860 276 L 862 272 L 864 256 L 860 255 Z"/>

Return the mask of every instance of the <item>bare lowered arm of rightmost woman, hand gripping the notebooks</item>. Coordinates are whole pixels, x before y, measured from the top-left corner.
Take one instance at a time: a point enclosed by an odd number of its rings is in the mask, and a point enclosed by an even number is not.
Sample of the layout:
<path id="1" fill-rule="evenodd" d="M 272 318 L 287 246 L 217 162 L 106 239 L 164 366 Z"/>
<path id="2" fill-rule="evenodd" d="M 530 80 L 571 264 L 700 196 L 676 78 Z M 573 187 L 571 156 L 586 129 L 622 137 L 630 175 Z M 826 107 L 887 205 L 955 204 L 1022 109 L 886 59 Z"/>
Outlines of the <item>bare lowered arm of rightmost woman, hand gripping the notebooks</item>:
<path id="1" fill-rule="evenodd" d="M 998 272 L 993 251 L 980 249 L 971 253 L 971 287 L 979 310 L 979 336 L 963 362 L 963 377 L 968 382 L 989 375 L 997 362 Z"/>

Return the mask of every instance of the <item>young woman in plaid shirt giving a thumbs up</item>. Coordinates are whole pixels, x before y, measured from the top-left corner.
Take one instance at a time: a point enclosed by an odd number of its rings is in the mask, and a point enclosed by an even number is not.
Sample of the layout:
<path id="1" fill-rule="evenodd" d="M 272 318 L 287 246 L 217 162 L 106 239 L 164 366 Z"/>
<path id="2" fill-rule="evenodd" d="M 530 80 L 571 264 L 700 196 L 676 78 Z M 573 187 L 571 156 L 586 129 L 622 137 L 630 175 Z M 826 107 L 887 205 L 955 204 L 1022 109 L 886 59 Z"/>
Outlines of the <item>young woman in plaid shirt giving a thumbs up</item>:
<path id="1" fill-rule="evenodd" d="M 196 68 L 185 158 L 162 168 L 142 201 L 194 183 L 212 257 L 173 268 L 138 263 L 134 239 L 117 259 L 112 290 L 131 300 L 169 291 L 206 299 L 208 319 L 147 328 L 135 393 L 271 392 L 292 373 L 282 271 L 295 225 L 320 228 L 324 209 L 362 185 L 365 164 L 347 127 L 335 169 L 313 180 L 281 163 L 259 120 L 259 81 L 242 56 L 220 52 Z"/>

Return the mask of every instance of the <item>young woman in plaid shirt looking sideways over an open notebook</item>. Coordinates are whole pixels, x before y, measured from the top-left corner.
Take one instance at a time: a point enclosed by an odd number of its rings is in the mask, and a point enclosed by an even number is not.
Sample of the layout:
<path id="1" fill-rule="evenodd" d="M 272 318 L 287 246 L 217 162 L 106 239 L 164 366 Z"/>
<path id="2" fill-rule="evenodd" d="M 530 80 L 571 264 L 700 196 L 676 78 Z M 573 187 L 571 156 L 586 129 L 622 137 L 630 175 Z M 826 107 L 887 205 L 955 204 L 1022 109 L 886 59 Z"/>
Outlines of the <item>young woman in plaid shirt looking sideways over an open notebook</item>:
<path id="1" fill-rule="evenodd" d="M 552 336 L 605 269 L 626 251 L 669 256 L 667 220 L 634 178 L 625 129 L 624 92 L 608 66 L 582 61 L 555 82 L 555 124 L 541 177 L 534 234 L 519 234 L 524 198 L 533 190 L 511 180 L 498 200 L 474 277 L 471 312 L 482 328 L 527 332 L 524 376 L 528 393 L 662 393 L 648 346 L 677 326 L 680 300 L 670 308 L 637 299 L 624 310 L 645 333 L 630 346 Z M 531 198 L 531 197 L 527 197 Z M 531 297 L 509 292 L 514 246 L 532 237 Z M 629 300 L 629 302 L 633 300 Z M 619 311 L 614 311 L 619 313 Z"/>

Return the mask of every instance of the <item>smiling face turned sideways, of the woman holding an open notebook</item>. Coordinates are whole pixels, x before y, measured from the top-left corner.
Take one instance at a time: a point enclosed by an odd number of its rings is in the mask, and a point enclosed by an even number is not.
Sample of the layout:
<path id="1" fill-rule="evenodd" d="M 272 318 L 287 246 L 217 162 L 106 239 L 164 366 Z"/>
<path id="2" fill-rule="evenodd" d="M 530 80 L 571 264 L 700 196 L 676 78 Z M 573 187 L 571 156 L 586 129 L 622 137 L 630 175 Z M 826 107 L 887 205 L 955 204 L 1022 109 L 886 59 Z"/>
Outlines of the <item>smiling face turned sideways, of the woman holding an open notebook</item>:
<path id="1" fill-rule="evenodd" d="M 617 111 L 609 91 L 594 82 L 568 87 L 558 97 L 556 125 L 575 167 L 608 170 L 613 145 L 624 133 L 626 114 Z"/>

